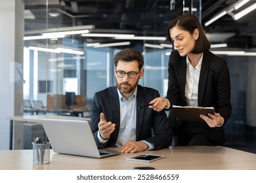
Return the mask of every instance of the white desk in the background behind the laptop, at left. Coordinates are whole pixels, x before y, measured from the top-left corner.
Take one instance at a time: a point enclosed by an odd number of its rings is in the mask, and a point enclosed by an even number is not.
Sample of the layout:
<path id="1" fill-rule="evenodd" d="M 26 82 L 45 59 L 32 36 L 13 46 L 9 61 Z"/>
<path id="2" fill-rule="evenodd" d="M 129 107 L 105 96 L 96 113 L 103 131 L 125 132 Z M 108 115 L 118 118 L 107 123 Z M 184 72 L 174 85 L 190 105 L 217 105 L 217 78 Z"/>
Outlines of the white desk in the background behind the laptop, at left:
<path id="1" fill-rule="evenodd" d="M 76 116 L 58 116 L 58 115 L 28 115 L 28 116 L 9 116 L 10 120 L 10 147 L 9 149 L 22 149 L 22 139 L 23 139 L 23 125 L 24 122 L 37 123 L 40 124 L 42 118 L 51 119 L 63 119 L 63 120 L 86 120 L 91 122 L 90 118 L 81 118 Z"/>

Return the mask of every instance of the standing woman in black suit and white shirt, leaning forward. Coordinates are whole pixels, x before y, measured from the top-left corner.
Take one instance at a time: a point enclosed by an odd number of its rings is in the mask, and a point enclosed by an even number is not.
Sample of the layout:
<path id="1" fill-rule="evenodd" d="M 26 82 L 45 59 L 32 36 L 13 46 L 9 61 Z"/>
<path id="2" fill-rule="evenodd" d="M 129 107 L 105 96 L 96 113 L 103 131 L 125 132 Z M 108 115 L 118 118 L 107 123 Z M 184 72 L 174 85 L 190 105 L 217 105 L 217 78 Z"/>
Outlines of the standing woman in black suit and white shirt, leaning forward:
<path id="1" fill-rule="evenodd" d="M 224 125 L 231 115 L 230 75 L 226 61 L 209 52 L 211 46 L 198 18 L 185 14 L 168 27 L 168 36 L 177 50 L 168 64 L 169 82 L 166 97 L 150 103 L 156 111 L 172 105 L 214 107 L 215 114 L 200 115 L 204 122 L 178 121 L 169 112 L 175 146 L 223 145 Z"/>

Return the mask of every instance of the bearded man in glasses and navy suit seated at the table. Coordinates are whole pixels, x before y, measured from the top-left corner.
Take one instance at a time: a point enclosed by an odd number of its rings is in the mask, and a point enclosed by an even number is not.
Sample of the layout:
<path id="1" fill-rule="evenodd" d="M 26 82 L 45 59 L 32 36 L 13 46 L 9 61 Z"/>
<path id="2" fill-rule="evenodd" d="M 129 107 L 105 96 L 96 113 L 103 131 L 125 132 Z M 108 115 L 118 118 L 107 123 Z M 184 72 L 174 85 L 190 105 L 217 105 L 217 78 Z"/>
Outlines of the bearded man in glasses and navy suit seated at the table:
<path id="1" fill-rule="evenodd" d="M 91 107 L 91 130 L 100 148 L 119 147 L 133 153 L 159 150 L 171 145 L 167 115 L 144 107 L 160 97 L 157 90 L 140 86 L 144 60 L 127 48 L 114 56 L 116 86 L 95 93 Z"/>

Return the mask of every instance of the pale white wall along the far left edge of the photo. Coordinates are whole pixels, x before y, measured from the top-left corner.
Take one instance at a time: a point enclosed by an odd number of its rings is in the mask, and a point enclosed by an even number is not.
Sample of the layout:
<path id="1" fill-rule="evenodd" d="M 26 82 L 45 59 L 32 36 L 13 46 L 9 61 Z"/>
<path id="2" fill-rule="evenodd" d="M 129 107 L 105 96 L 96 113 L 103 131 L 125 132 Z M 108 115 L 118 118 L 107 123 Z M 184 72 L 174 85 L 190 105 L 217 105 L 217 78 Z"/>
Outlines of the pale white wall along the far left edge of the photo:
<path id="1" fill-rule="evenodd" d="M 22 0 L 0 0 L 0 4 L 0 150 L 6 150 L 10 142 L 7 116 L 19 115 L 22 103 L 23 78 L 16 69 L 22 73 L 24 4 Z"/>

